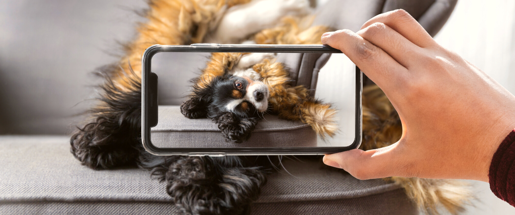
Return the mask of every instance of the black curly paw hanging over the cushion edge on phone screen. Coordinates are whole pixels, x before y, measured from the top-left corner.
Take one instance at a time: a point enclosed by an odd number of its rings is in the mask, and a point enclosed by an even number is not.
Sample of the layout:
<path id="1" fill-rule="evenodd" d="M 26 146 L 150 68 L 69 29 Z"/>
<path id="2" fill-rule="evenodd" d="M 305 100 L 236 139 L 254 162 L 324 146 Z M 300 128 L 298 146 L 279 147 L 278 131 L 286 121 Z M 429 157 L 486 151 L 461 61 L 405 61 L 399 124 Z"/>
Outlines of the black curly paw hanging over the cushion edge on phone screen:
<path id="1" fill-rule="evenodd" d="M 218 128 L 222 132 L 222 136 L 226 141 L 241 143 L 250 138 L 252 130 L 258 120 L 254 118 L 238 118 L 233 112 L 225 112 L 213 118 Z"/>

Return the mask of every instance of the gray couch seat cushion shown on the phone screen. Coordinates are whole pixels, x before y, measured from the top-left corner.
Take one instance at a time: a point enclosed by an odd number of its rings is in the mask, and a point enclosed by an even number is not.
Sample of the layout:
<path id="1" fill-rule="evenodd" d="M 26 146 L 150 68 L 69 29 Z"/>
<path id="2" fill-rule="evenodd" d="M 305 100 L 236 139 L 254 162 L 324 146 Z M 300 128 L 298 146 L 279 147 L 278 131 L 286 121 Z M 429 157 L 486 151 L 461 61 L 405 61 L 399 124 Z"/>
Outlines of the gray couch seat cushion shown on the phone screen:
<path id="1" fill-rule="evenodd" d="M 310 125 L 282 120 L 277 115 L 265 115 L 250 139 L 242 143 L 226 142 L 210 119 L 185 118 L 179 106 L 159 106 L 158 125 L 150 130 L 152 144 L 161 148 L 317 146 L 317 135 Z"/>

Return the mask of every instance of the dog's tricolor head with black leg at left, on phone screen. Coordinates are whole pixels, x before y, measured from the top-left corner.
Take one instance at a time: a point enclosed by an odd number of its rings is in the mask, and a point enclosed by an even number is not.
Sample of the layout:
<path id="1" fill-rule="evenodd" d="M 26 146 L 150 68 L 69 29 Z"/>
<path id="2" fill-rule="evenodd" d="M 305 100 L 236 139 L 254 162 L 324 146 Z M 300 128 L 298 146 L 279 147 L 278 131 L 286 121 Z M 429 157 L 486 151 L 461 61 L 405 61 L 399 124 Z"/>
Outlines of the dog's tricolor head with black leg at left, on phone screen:
<path id="1" fill-rule="evenodd" d="M 223 112 L 238 117 L 254 117 L 268 108 L 268 87 L 260 80 L 246 76 L 217 76 L 209 85 L 193 88 L 193 96 L 185 102 L 182 113 L 188 118 L 214 118 Z"/>

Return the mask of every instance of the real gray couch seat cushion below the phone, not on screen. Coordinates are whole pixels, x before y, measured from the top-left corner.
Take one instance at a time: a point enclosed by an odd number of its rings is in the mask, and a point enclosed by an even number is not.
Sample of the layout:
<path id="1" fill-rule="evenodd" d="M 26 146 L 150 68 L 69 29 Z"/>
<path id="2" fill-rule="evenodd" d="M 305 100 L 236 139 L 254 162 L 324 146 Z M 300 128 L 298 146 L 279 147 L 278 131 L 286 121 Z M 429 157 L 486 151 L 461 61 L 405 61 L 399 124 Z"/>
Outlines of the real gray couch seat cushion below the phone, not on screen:
<path id="1" fill-rule="evenodd" d="M 70 153 L 69 137 L 0 136 L 0 214 L 177 214 L 165 184 L 144 170 L 95 171 Z M 417 214 L 403 190 L 284 159 L 252 214 Z"/>

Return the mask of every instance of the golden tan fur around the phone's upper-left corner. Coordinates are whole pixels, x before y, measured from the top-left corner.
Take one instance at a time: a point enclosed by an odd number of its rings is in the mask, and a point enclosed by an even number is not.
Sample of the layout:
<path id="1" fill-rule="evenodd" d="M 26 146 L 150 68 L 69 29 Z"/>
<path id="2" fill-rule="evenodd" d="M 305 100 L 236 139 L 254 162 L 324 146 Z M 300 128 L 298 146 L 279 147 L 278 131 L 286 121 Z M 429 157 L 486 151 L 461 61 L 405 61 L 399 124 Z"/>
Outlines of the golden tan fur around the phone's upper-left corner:
<path id="1" fill-rule="evenodd" d="M 138 26 L 138 36 L 125 45 L 126 55 L 119 62 L 120 69 L 113 80 L 131 89 L 133 85 L 124 75 L 133 70 L 141 79 L 141 57 L 145 49 L 155 44 L 182 45 L 202 42 L 224 7 L 248 3 L 250 0 L 149 0 L 146 23 Z"/>

